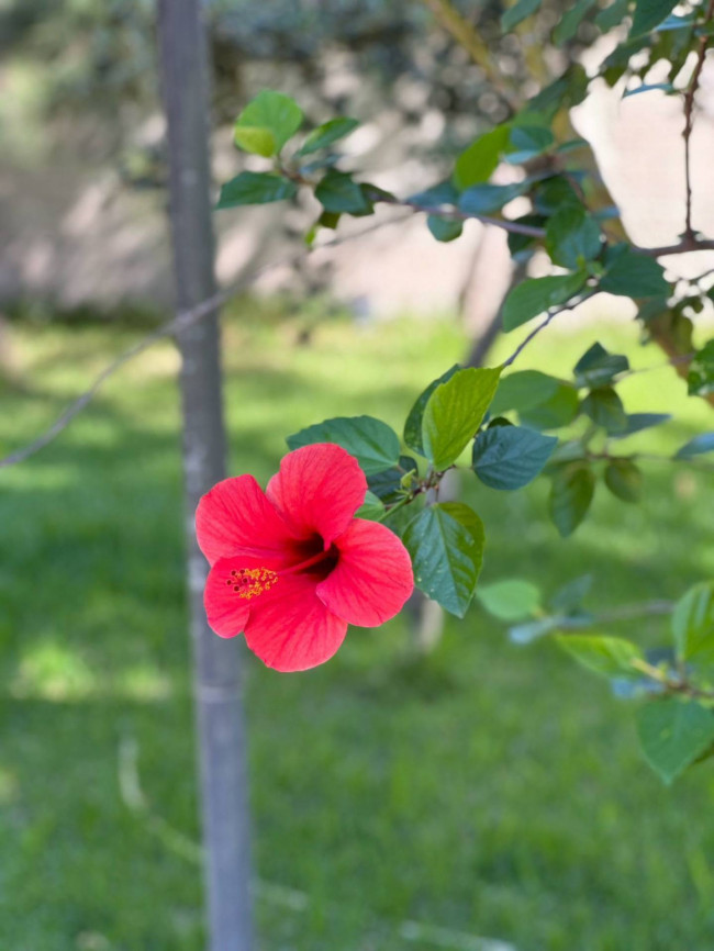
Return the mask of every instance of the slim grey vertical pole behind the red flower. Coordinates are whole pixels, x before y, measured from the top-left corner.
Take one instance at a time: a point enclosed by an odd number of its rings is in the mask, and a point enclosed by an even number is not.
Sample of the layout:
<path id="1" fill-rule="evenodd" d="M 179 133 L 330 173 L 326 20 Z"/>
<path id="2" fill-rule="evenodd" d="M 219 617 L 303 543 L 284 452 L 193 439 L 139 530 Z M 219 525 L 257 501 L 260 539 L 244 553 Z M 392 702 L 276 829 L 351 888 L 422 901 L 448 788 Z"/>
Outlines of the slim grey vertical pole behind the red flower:
<path id="1" fill-rule="evenodd" d="M 168 122 L 169 210 L 177 304 L 194 306 L 215 290 L 209 164 L 209 61 L 201 0 L 159 0 L 161 85 Z M 222 640 L 203 611 L 207 566 L 196 544 L 200 496 L 225 475 L 217 313 L 185 328 L 186 536 L 193 642 L 204 875 L 211 951 L 250 951 L 249 820 L 241 645 Z"/>

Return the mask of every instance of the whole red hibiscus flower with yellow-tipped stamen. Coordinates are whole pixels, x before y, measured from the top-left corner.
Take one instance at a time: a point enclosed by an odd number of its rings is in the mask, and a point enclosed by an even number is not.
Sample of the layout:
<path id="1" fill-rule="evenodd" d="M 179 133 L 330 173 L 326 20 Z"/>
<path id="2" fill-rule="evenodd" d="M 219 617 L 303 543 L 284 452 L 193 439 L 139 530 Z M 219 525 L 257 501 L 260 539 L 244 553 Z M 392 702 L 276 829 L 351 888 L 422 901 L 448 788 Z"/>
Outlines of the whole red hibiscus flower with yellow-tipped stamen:
<path id="1" fill-rule="evenodd" d="M 253 475 L 214 485 L 196 513 L 213 630 L 245 631 L 268 667 L 292 671 L 328 660 L 348 624 L 393 617 L 412 566 L 389 528 L 354 517 L 366 491 L 357 460 L 326 443 L 289 452 L 265 492 Z"/>

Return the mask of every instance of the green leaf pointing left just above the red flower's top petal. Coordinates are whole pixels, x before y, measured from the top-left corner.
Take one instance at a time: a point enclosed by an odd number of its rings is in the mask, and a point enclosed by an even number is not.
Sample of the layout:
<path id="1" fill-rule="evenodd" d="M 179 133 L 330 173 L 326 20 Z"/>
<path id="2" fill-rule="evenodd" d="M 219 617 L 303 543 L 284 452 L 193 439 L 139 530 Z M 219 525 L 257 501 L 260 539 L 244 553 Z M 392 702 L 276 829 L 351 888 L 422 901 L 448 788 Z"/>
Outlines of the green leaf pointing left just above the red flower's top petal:
<path id="1" fill-rule="evenodd" d="M 399 460 L 399 436 L 373 416 L 337 416 L 308 426 L 286 439 L 290 449 L 313 443 L 335 443 L 354 456 L 367 475 Z M 371 488 L 371 486 L 370 486 Z"/>

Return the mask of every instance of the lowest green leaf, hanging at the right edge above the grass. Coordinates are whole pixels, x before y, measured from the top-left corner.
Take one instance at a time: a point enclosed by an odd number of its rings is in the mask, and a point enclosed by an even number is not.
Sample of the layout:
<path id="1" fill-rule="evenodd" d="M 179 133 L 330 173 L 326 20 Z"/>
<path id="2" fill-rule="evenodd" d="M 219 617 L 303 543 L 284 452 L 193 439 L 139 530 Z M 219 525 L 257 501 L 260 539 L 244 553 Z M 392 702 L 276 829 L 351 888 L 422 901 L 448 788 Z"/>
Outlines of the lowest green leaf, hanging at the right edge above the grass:
<path id="1" fill-rule="evenodd" d="M 647 762 L 669 785 L 714 741 L 714 714 L 698 703 L 666 697 L 637 711 L 637 732 Z"/>

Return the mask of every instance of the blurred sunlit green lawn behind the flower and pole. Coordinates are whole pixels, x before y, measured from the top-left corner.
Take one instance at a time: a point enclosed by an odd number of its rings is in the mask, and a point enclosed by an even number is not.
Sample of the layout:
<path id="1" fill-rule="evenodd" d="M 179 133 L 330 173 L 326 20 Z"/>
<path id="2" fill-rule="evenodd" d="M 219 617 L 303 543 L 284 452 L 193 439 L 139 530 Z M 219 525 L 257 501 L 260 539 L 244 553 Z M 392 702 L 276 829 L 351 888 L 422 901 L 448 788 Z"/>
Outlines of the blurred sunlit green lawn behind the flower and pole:
<path id="1" fill-rule="evenodd" d="M 462 357 L 455 323 L 344 320 L 299 345 L 300 316 L 242 302 L 225 334 L 234 473 L 265 480 L 283 438 L 338 414 L 399 425 Z M 120 328 L 13 332 L 2 448 L 32 437 L 122 346 Z M 657 365 L 634 329 L 543 335 L 520 368 L 567 370 L 595 339 Z M 517 338 L 499 344 L 500 356 Z M 198 951 L 200 872 L 182 585 L 177 358 L 126 367 L 51 447 L 0 474 L 0 948 Z M 669 369 L 622 387 L 676 414 L 631 445 L 671 451 L 712 428 Z M 636 441 L 637 440 L 637 441 Z M 599 488 L 569 541 L 546 489 L 465 486 L 488 535 L 483 580 L 553 592 L 594 575 L 591 606 L 677 597 L 714 574 L 712 475 L 651 462 L 640 506 Z M 661 620 L 627 631 L 666 637 Z M 714 946 L 711 764 L 671 791 L 643 764 L 632 709 L 549 644 L 511 646 L 478 607 L 416 659 L 403 619 L 353 630 L 334 661 L 286 676 L 247 658 L 264 951 L 427 951 L 406 919 L 518 951 Z M 153 815 L 120 788 L 135 743 Z M 124 777 L 126 779 L 126 777 Z M 171 831 L 161 825 L 167 823 Z M 432 936 L 433 937 L 433 936 Z M 456 946 L 455 946 L 456 947 Z M 462 944 L 461 947 L 467 947 Z"/>

